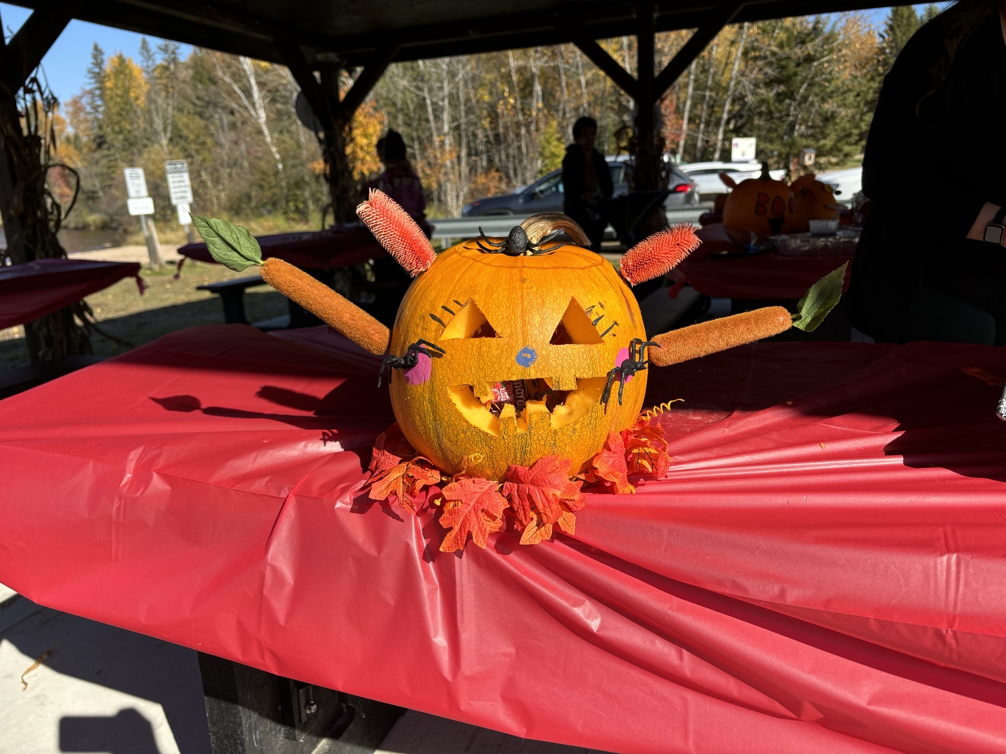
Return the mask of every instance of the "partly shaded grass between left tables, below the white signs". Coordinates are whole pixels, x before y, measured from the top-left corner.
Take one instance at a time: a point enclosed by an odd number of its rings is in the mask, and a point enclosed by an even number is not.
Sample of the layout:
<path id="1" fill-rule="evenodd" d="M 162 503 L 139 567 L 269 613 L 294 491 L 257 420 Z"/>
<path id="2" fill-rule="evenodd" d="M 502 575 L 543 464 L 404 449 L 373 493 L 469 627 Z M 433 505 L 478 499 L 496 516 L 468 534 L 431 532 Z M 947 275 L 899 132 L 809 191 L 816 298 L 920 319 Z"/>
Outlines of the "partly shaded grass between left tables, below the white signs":
<path id="1" fill-rule="evenodd" d="M 191 259 L 182 267 L 181 277 L 174 278 L 174 268 L 155 270 L 144 266 L 141 275 L 147 292 L 140 296 L 132 277 L 119 280 L 87 298 L 95 319 L 111 335 L 140 346 L 176 330 L 196 325 L 222 325 L 223 307 L 219 297 L 196 286 L 234 277 L 247 277 L 250 271 L 234 272 L 222 264 L 207 264 Z M 259 322 L 287 314 L 287 299 L 269 286 L 248 289 L 244 294 L 248 322 Z M 99 356 L 114 356 L 128 350 L 97 333 L 92 345 Z M 0 331 L 0 369 L 27 366 L 24 328 Z"/>

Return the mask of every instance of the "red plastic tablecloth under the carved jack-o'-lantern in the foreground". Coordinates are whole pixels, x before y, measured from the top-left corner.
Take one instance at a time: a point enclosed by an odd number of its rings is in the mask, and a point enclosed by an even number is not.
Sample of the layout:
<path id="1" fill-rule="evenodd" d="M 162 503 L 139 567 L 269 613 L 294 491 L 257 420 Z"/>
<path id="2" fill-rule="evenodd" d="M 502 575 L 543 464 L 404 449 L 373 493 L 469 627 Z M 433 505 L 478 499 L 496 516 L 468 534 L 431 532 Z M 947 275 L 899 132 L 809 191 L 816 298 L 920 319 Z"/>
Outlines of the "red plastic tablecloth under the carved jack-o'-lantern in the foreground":
<path id="1" fill-rule="evenodd" d="M 670 477 L 462 555 L 358 490 L 391 420 L 324 331 L 176 333 L 0 402 L 0 581 L 520 736 L 1006 749 L 1006 351 L 768 343 L 657 370 Z"/>

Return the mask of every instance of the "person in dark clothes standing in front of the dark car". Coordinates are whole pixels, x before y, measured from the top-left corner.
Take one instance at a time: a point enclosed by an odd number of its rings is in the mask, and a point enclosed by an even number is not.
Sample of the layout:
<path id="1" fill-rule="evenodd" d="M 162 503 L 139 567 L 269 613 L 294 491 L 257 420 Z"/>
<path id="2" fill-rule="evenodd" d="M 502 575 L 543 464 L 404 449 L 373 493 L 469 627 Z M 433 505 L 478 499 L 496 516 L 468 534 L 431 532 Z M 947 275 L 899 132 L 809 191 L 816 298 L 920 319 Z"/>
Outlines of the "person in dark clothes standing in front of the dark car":
<path id="1" fill-rule="evenodd" d="M 594 148 L 598 122 L 580 118 L 573 124 L 573 144 L 566 147 L 562 160 L 562 184 L 565 213 L 574 219 L 588 238 L 591 248 L 601 251 L 601 240 L 608 221 L 605 202 L 612 198 L 615 186 L 605 156 Z"/>

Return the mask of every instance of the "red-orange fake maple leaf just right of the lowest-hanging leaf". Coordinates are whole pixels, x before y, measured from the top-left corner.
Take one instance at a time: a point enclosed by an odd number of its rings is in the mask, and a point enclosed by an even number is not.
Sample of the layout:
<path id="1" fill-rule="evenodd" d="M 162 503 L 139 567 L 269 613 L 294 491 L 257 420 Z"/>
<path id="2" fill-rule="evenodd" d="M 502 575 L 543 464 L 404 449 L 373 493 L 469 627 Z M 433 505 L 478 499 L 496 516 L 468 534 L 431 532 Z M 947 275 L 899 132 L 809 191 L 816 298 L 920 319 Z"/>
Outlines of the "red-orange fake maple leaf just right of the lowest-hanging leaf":
<path id="1" fill-rule="evenodd" d="M 534 508 L 540 514 L 541 524 L 554 524 L 565 512 L 583 507 L 582 483 L 569 480 L 569 459 L 561 455 L 545 455 L 528 466 L 512 465 L 507 468 L 503 483 L 503 497 L 517 519 L 517 525 L 526 529 L 531 523 Z"/>

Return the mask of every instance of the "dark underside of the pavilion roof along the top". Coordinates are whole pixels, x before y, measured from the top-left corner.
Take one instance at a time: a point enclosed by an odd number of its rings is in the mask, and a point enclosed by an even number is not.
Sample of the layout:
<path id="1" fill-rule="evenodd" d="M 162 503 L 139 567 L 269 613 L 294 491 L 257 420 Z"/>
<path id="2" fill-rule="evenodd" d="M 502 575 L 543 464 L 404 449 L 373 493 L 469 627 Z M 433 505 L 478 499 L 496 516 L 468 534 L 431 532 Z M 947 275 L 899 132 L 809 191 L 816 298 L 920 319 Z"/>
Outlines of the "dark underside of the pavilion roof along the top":
<path id="1" fill-rule="evenodd" d="M 53 0 L 16 0 L 36 10 Z M 657 31 L 870 7 L 876 0 L 663 0 Z M 283 62 L 284 43 L 306 60 L 364 64 L 393 49 L 393 60 L 559 44 L 635 34 L 635 2 L 611 0 L 74 0 L 73 18 L 262 60 Z M 321 58 L 318 55 L 321 54 Z"/>

